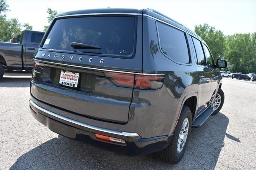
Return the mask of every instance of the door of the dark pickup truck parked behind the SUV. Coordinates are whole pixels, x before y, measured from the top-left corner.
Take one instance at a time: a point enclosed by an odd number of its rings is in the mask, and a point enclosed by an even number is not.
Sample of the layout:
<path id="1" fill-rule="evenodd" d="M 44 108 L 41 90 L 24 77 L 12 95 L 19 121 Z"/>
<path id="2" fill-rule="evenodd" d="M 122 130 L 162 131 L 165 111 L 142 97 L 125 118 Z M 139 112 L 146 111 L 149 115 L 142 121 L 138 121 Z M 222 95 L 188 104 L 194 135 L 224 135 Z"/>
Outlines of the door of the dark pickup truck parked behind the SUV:
<path id="1" fill-rule="evenodd" d="M 26 46 L 24 47 L 25 64 L 27 69 L 33 68 L 33 57 L 38 50 L 43 36 L 44 33 L 28 31 L 26 36 Z"/>

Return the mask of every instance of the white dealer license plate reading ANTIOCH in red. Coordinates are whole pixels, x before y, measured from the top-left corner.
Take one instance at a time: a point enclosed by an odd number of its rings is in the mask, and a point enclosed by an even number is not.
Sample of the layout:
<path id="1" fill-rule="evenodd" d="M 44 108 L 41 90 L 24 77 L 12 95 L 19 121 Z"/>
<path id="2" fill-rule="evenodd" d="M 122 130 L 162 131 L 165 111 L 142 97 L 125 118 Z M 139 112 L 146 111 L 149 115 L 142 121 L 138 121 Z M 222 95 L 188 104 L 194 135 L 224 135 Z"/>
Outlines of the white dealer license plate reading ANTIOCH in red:
<path id="1" fill-rule="evenodd" d="M 72 73 L 70 71 L 60 71 L 59 83 L 64 86 L 78 88 L 79 73 Z"/>

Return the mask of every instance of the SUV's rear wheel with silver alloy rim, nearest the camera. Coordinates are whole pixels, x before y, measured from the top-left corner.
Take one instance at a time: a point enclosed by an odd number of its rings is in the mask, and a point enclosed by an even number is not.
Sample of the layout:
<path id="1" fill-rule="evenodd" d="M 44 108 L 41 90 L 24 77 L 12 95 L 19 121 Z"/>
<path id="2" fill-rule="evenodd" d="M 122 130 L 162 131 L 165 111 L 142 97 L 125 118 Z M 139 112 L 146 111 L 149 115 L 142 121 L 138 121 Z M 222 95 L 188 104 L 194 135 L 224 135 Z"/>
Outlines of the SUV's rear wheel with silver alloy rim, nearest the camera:
<path id="1" fill-rule="evenodd" d="M 174 131 L 170 145 L 164 150 L 158 152 L 158 157 L 162 161 L 168 162 L 170 164 L 176 164 L 180 162 L 186 151 L 191 131 L 191 125 L 191 111 L 188 107 L 184 106 L 180 113 L 180 119 L 178 121 L 176 130 Z"/>

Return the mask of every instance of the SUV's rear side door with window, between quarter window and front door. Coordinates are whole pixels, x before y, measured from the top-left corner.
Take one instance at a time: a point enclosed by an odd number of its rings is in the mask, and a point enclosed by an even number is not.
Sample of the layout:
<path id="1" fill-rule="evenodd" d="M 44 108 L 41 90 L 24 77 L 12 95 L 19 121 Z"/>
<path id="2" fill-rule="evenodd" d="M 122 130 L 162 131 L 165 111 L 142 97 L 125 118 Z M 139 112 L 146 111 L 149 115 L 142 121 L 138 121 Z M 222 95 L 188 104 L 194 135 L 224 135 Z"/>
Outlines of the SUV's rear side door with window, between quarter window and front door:
<path id="1" fill-rule="evenodd" d="M 196 51 L 196 69 L 198 71 L 198 113 L 200 115 L 207 107 L 210 100 L 211 77 L 212 73 L 208 69 L 207 61 L 203 49 L 203 44 L 200 40 L 192 37 L 194 49 Z"/>

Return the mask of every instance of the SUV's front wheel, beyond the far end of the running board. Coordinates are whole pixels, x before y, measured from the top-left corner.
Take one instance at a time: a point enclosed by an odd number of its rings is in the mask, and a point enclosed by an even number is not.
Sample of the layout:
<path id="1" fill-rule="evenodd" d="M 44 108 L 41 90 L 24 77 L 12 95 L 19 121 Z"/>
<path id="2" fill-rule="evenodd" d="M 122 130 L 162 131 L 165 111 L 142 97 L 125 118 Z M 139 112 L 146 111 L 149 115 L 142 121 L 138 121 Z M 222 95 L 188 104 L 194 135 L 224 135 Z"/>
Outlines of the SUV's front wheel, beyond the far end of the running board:
<path id="1" fill-rule="evenodd" d="M 214 94 L 215 95 L 215 94 Z M 214 95 L 212 96 L 212 99 L 214 98 Z M 216 97 L 214 99 L 214 101 L 212 101 L 212 99 L 210 100 L 210 104 L 212 104 L 212 109 L 213 109 L 213 113 L 212 115 L 216 115 L 217 113 L 219 113 L 220 109 L 223 106 L 224 103 L 224 92 L 222 91 L 222 89 L 218 89 L 218 92 L 216 94 Z"/>

